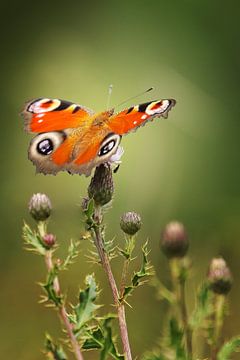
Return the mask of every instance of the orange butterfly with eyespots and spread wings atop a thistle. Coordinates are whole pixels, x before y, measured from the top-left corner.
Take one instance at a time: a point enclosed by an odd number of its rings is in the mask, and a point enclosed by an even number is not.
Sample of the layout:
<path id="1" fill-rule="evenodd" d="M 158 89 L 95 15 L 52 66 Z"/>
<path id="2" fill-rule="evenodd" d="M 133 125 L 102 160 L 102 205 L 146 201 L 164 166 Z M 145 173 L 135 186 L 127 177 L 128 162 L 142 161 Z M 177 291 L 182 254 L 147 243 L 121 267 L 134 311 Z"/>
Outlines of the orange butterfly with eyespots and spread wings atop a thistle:
<path id="1" fill-rule="evenodd" d="M 68 171 L 88 176 L 96 166 L 119 160 L 123 135 L 155 117 L 167 118 L 175 104 L 174 99 L 156 100 L 114 114 L 114 109 L 94 113 L 70 101 L 34 99 L 21 113 L 25 131 L 37 133 L 28 157 L 43 174 Z"/>

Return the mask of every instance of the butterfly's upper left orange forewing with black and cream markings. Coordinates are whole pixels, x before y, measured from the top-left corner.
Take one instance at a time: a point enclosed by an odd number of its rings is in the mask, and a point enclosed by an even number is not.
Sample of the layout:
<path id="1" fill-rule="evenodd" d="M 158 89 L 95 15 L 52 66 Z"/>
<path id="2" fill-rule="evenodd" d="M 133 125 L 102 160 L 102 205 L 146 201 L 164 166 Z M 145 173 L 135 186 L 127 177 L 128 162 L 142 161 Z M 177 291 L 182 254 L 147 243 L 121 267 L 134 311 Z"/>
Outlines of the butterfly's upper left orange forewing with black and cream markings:
<path id="1" fill-rule="evenodd" d="M 30 101 L 22 111 L 25 130 L 34 133 L 77 128 L 93 113 L 70 101 L 48 98 Z"/>

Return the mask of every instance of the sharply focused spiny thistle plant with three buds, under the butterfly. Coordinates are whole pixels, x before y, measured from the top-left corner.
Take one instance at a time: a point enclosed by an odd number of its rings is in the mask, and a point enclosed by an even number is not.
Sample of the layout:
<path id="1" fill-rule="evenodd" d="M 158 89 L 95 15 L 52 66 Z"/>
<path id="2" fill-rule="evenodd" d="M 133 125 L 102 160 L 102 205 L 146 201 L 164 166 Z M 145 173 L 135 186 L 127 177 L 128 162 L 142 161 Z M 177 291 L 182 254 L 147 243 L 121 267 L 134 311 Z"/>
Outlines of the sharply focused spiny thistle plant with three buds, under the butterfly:
<path id="1" fill-rule="evenodd" d="M 132 274 L 130 284 L 127 284 L 129 264 L 134 261 L 133 251 L 137 232 L 141 227 L 140 216 L 129 212 L 120 220 L 120 226 L 125 234 L 125 247 L 123 249 L 114 245 L 113 241 L 105 239 L 104 212 L 112 200 L 114 185 L 112 170 L 108 164 L 96 168 L 95 174 L 88 187 L 88 196 L 83 199 L 82 209 L 85 225 L 91 234 L 92 243 L 96 252 L 91 252 L 92 260 L 100 263 L 106 273 L 114 302 L 114 311 L 111 314 L 100 316 L 101 305 L 96 304 L 99 297 L 95 276 L 87 275 L 85 289 L 80 290 L 76 305 L 72 305 L 60 286 L 60 274 L 68 269 L 78 256 L 79 242 L 70 242 L 66 258 L 60 260 L 55 256 L 58 243 L 56 236 L 48 232 L 48 221 L 52 212 L 52 205 L 45 194 L 35 194 L 29 202 L 29 213 L 36 222 L 36 229 L 28 224 L 23 226 L 23 239 L 27 250 L 41 255 L 46 264 L 46 281 L 40 283 L 44 296 L 41 301 L 58 311 L 66 342 L 69 349 L 78 360 L 83 360 L 84 351 L 98 350 L 101 360 L 109 356 L 113 359 L 131 360 L 131 348 L 128 336 L 125 307 L 127 298 L 135 288 L 142 285 L 152 274 L 148 260 L 147 243 L 142 246 L 142 265 Z M 109 207 L 109 206 L 108 206 Z M 122 278 L 119 286 L 115 280 L 111 261 L 116 256 L 123 257 Z M 118 319 L 119 332 L 122 342 L 122 353 L 118 351 L 114 340 L 112 321 Z M 58 341 L 59 343 L 59 341 Z M 49 359 L 67 359 L 63 345 L 56 344 L 49 334 L 46 335 L 45 353 Z"/>

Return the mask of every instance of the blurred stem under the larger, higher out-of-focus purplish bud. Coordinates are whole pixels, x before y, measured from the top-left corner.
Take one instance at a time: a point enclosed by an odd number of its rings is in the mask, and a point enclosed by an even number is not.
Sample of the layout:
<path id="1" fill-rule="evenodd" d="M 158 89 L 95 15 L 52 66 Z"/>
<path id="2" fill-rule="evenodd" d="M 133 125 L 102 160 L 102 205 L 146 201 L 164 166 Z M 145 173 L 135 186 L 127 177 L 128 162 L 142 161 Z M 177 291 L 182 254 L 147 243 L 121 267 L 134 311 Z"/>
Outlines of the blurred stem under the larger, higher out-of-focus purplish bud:
<path id="1" fill-rule="evenodd" d="M 185 295 L 185 279 L 181 274 L 181 259 L 173 258 L 170 260 L 170 270 L 173 283 L 173 290 L 176 297 L 178 312 L 180 314 L 180 321 L 182 323 L 183 332 L 185 336 L 186 349 L 190 359 L 192 358 L 192 330 L 188 323 L 188 314 L 186 306 Z"/>

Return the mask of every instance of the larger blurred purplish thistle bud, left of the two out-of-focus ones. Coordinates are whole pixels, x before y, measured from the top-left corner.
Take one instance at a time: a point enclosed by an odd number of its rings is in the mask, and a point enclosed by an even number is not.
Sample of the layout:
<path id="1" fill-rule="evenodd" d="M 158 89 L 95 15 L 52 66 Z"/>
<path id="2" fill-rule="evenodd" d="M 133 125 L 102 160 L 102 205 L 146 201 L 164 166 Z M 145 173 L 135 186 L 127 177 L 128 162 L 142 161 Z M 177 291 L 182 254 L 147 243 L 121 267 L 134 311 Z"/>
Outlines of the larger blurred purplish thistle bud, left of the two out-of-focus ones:
<path id="1" fill-rule="evenodd" d="M 166 225 L 161 236 L 161 249 L 168 258 L 183 257 L 189 247 L 186 230 L 180 222 Z"/>

